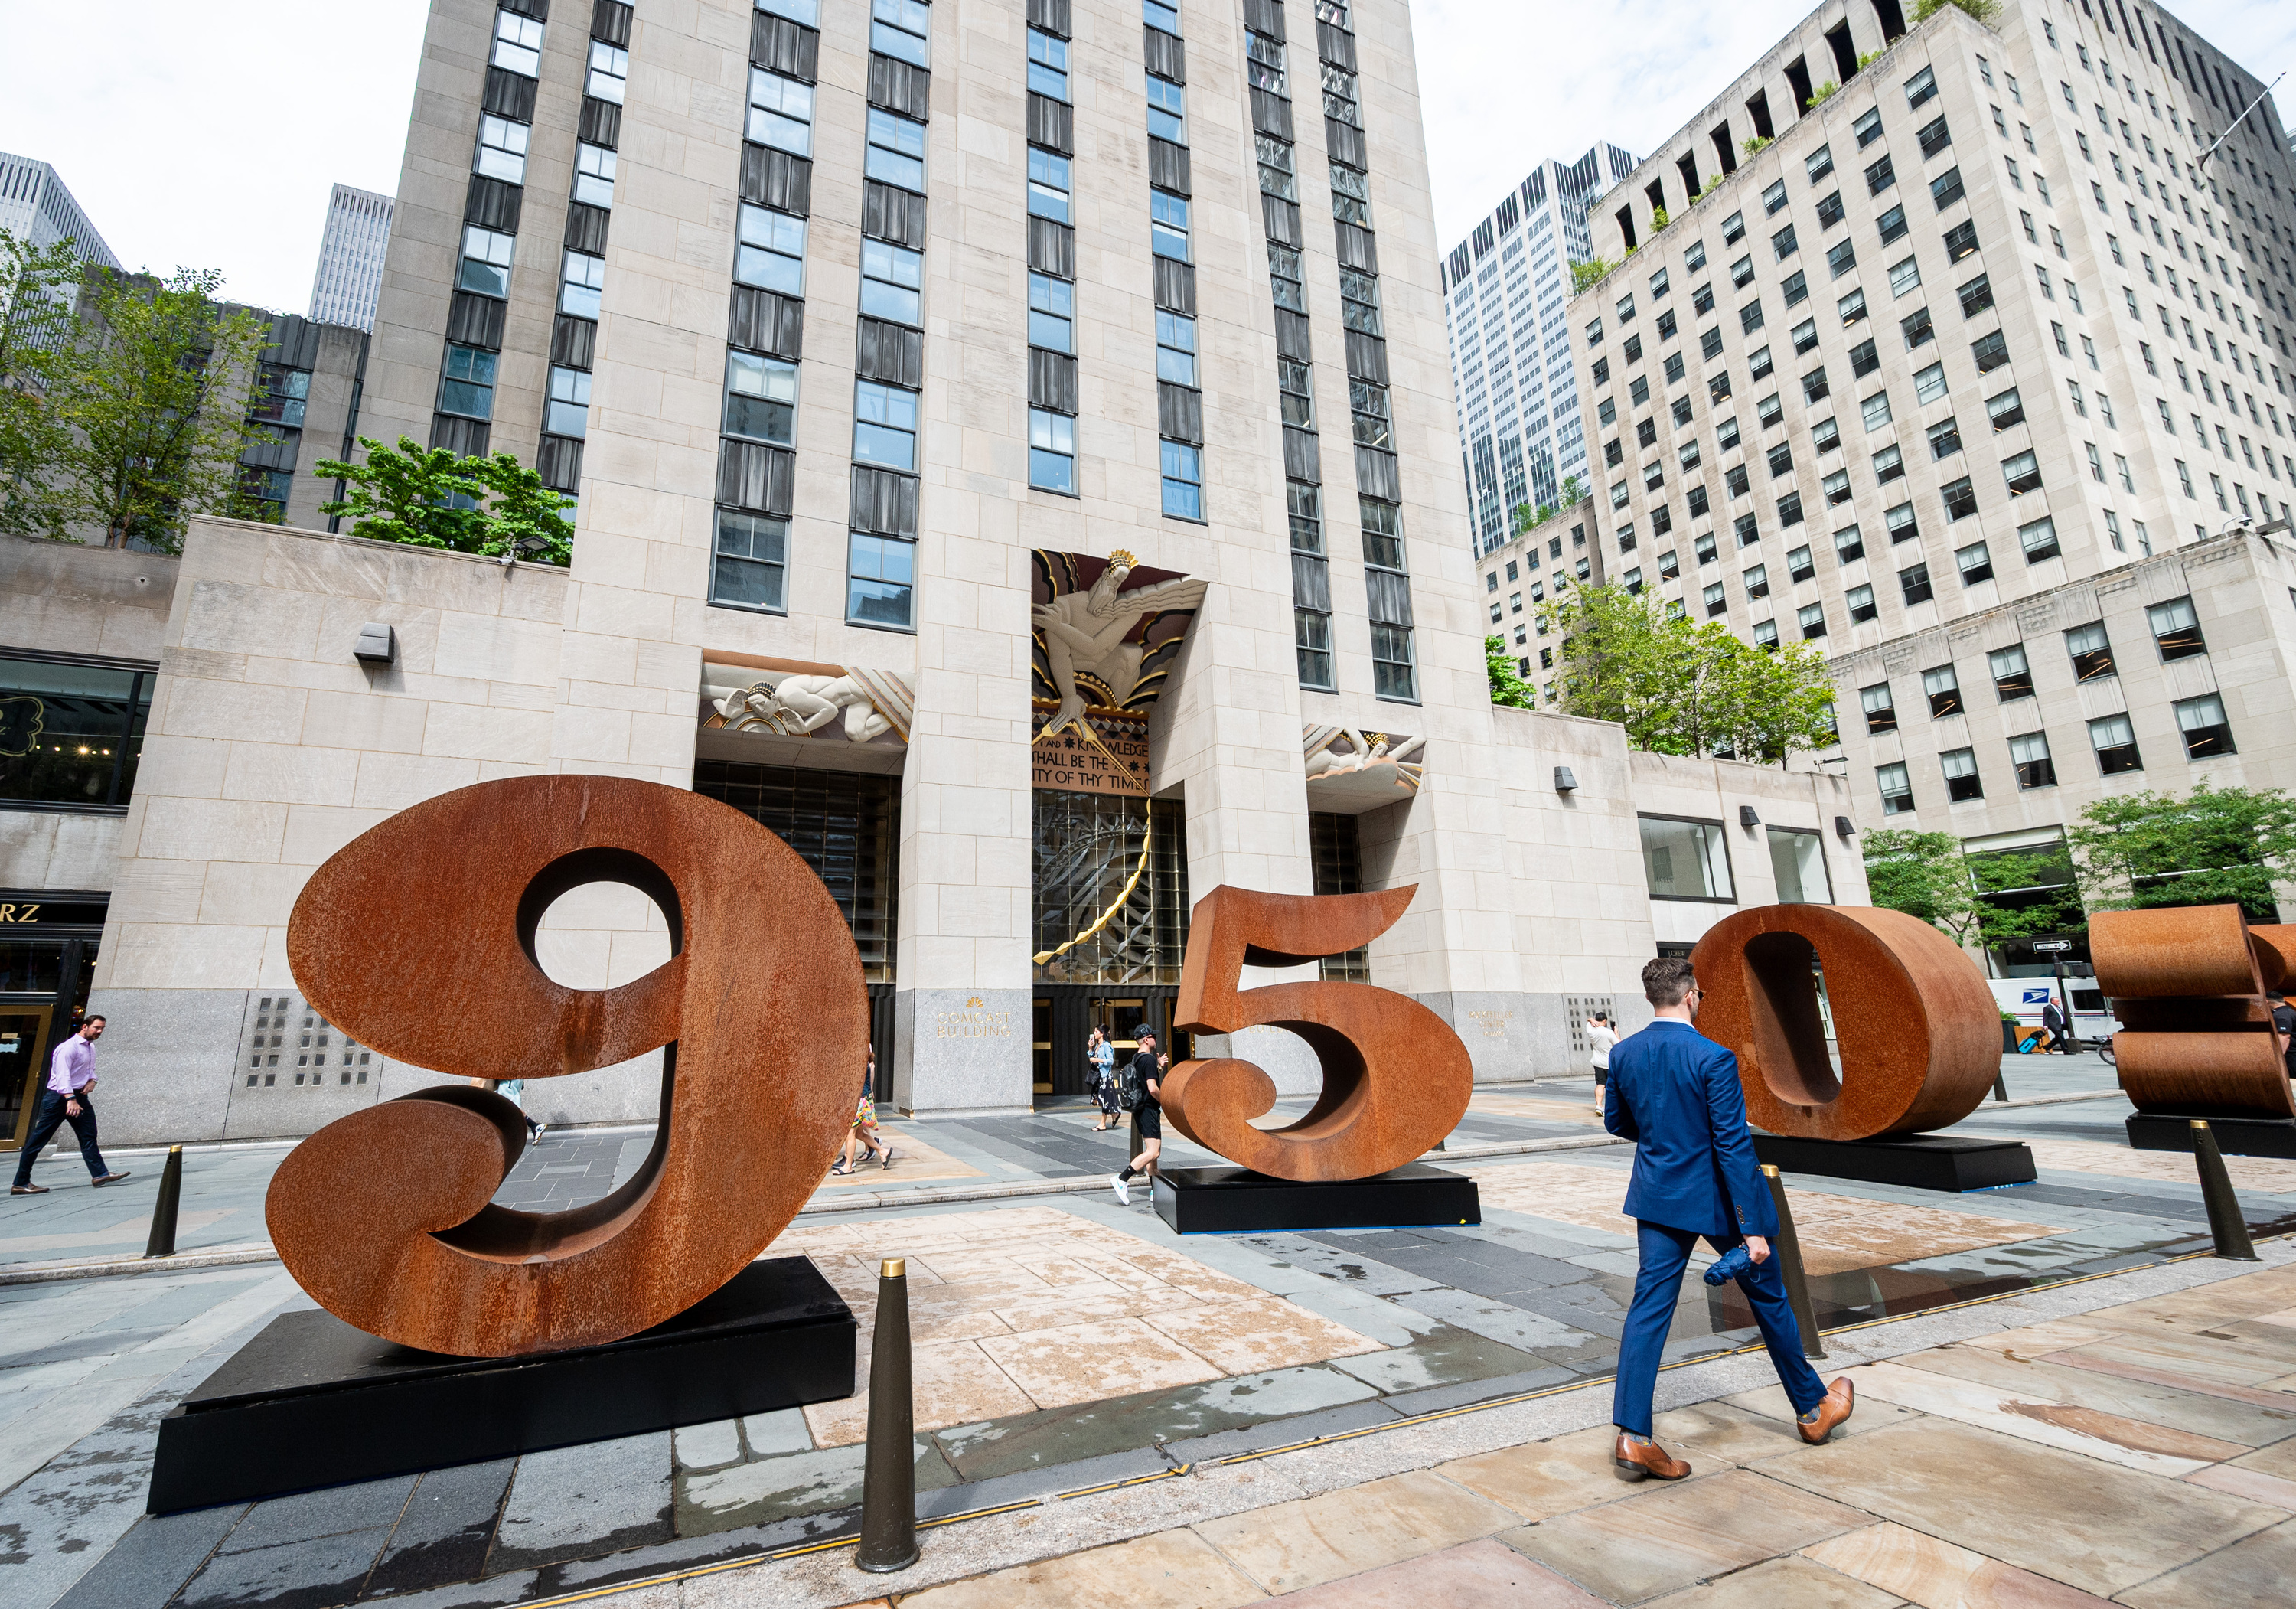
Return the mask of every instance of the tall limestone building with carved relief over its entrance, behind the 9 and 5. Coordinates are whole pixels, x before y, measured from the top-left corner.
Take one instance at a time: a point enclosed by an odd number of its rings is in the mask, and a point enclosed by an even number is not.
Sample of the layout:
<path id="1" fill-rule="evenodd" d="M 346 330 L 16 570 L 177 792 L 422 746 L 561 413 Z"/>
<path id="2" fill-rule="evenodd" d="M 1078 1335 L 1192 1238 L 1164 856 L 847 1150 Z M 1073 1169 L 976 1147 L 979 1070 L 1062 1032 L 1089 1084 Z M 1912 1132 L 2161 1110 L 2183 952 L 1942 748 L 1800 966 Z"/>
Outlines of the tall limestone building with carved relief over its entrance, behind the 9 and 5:
<path id="1" fill-rule="evenodd" d="M 501 776 L 781 833 L 850 916 L 879 1097 L 928 1118 L 1169 1026 L 1219 884 L 1417 884 L 1318 971 L 1426 1001 L 1486 1081 L 1577 1065 L 1655 946 L 1768 902 L 1773 826 L 1816 845 L 1802 897 L 1862 897 L 1841 783 L 1492 712 L 1401 0 L 436 0 L 363 397 L 367 436 L 572 484 L 572 569 L 193 523 L 92 992 L 51 1001 L 110 1017 L 108 1132 L 294 1134 L 432 1076 L 317 1019 L 287 916 Z M 668 953 L 622 891 L 537 943 L 579 987 Z M 1309 1088 L 1290 1035 L 1235 1042 Z"/>

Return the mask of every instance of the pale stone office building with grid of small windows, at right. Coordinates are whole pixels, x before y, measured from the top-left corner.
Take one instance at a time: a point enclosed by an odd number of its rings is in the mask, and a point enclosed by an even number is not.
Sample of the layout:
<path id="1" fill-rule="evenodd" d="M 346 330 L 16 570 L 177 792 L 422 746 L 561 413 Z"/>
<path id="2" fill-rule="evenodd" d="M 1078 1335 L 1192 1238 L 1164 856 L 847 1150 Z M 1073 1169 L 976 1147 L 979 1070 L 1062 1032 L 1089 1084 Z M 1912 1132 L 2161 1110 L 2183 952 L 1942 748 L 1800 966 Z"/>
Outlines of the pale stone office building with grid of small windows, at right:
<path id="1" fill-rule="evenodd" d="M 2296 783 L 2278 126 L 2142 0 L 1851 0 L 1598 209 L 1607 572 L 1821 643 L 1862 826 L 2032 852 L 2110 792 Z"/>

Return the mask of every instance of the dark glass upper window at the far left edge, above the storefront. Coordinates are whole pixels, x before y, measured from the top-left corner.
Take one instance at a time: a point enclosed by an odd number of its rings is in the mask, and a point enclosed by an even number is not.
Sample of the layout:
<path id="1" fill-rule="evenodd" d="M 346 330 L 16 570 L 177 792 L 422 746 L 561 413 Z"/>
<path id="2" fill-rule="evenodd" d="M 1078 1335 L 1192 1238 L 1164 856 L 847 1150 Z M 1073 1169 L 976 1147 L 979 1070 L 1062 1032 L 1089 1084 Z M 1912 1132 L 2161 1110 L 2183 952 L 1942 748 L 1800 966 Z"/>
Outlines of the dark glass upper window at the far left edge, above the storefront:
<path id="1" fill-rule="evenodd" d="M 152 670 L 0 654 L 0 806 L 124 810 Z"/>

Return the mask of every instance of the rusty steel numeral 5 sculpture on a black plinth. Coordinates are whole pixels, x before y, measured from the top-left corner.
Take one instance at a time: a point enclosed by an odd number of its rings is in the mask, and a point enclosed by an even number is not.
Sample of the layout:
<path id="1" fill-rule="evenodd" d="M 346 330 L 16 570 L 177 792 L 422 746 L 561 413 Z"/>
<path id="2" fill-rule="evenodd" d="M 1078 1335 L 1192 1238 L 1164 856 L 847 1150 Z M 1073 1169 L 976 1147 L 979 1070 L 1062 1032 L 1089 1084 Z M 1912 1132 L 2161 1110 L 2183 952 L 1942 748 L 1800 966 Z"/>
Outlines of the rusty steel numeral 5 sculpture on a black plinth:
<path id="1" fill-rule="evenodd" d="M 1159 1083 L 1187 1138 L 1279 1180 L 1364 1180 L 1417 1161 L 1467 1113 L 1467 1047 L 1419 1001 L 1368 982 L 1244 989 L 1244 966 L 1345 955 L 1396 925 L 1417 884 L 1380 893 L 1297 895 L 1219 886 L 1196 902 L 1173 1021 L 1189 1033 L 1290 1028 L 1322 1063 L 1322 1095 L 1283 1129 L 1251 1118 L 1274 1081 L 1233 1056 L 1178 1063 Z"/>

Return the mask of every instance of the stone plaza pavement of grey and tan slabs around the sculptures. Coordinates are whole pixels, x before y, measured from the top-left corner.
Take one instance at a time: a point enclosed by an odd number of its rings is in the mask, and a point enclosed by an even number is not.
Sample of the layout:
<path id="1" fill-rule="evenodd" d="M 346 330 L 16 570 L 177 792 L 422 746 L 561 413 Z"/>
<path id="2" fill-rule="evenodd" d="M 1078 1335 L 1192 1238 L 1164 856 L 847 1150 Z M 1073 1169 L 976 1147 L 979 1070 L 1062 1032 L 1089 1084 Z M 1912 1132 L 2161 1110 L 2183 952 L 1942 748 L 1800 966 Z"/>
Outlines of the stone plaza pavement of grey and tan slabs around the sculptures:
<path id="1" fill-rule="evenodd" d="M 158 1155 L 119 1152 L 138 1177 L 108 1191 L 51 1155 L 57 1189 L 0 1217 L 0 1602 L 2285 1602 L 2296 1164 L 2232 1159 L 2262 1269 L 2195 1256 L 2190 1159 L 2126 1148 L 2108 1067 L 2004 1076 L 2011 1104 L 1963 1129 L 2027 1138 L 2037 1184 L 1793 1180 L 1860 1435 L 1800 1448 L 1745 1308 L 1685 1281 L 1678 1487 L 1619 1485 L 1600 1446 L 1630 1150 L 1587 1081 L 1476 1095 L 1449 1157 L 1486 1221 L 1449 1230 L 1182 1239 L 1146 1191 L 1116 1205 L 1123 1136 L 1084 1109 L 889 1125 L 893 1168 L 824 1180 L 774 1256 L 840 1288 L 863 1359 L 875 1260 L 909 1258 L 921 1513 L 1001 1513 L 928 1529 L 893 1579 L 843 1547 L 774 1556 L 852 1531 L 866 1396 L 145 1517 L 158 1416 L 310 1306 L 262 1242 L 287 1145 L 188 1152 L 158 1272 L 131 1262 Z M 588 1200 L 641 1155 L 551 1134 L 501 1200 Z"/>

